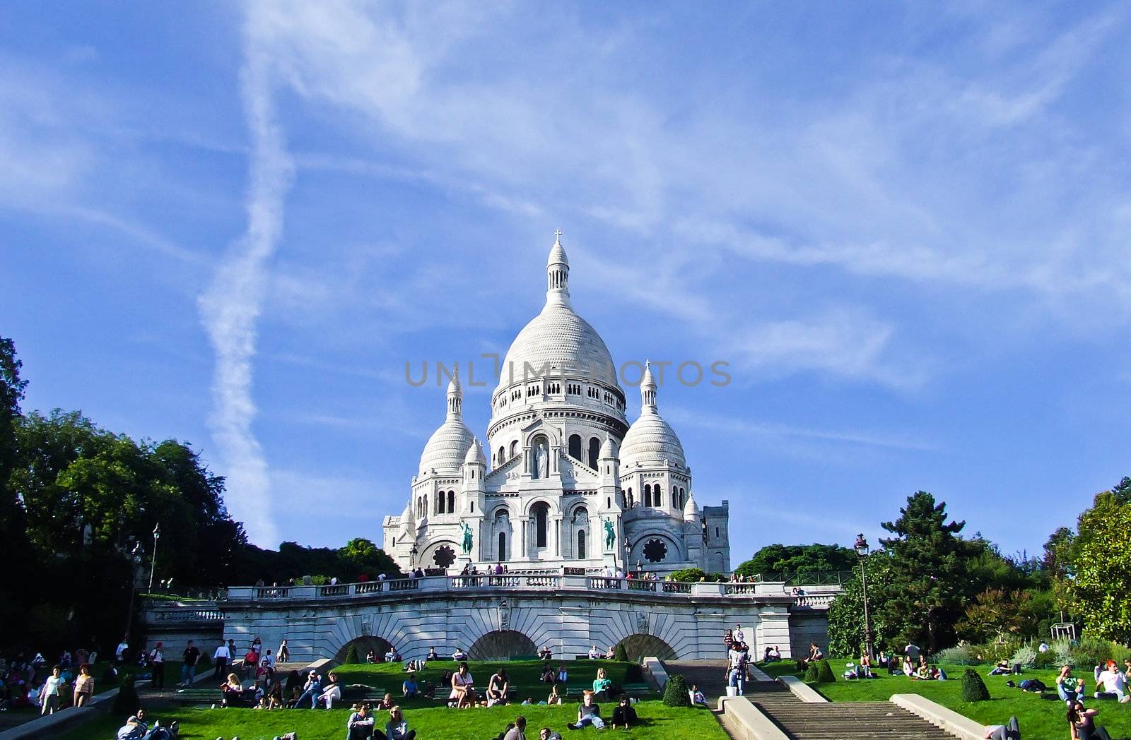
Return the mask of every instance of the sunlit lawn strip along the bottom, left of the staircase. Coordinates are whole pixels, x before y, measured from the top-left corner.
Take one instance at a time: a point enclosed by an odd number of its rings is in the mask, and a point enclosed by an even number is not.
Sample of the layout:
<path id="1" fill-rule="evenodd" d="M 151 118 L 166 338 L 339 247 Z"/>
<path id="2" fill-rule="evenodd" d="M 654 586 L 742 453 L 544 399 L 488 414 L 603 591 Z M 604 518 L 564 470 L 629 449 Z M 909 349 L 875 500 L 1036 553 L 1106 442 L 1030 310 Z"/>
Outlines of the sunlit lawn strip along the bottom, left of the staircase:
<path id="1" fill-rule="evenodd" d="M 602 715 L 612 716 L 612 704 L 602 705 Z M 640 725 L 624 733 L 640 740 L 673 740 L 696 738 L 696 740 L 726 740 L 727 735 L 707 709 L 674 708 L 662 702 L 640 702 L 636 705 Z M 407 709 L 405 719 L 417 731 L 421 740 L 487 740 L 502 732 L 508 722 L 518 715 L 527 719 L 526 737 L 536 738 L 537 729 L 550 726 L 563 735 L 566 723 L 577 719 L 577 706 L 497 706 L 473 709 L 449 709 L 433 707 Z M 283 709 L 264 712 L 260 709 L 209 709 L 191 708 L 171 712 L 155 712 L 150 719 L 159 719 L 162 724 L 173 720 L 181 723 L 184 740 L 230 739 L 239 735 L 247 740 L 271 738 L 296 731 L 300 740 L 340 740 L 345 737 L 349 709 Z M 379 713 L 382 724 L 388 717 Z M 110 740 L 121 726 L 121 717 L 100 717 L 61 735 L 61 740 Z M 576 733 L 584 738 L 596 734 L 593 729 Z"/>

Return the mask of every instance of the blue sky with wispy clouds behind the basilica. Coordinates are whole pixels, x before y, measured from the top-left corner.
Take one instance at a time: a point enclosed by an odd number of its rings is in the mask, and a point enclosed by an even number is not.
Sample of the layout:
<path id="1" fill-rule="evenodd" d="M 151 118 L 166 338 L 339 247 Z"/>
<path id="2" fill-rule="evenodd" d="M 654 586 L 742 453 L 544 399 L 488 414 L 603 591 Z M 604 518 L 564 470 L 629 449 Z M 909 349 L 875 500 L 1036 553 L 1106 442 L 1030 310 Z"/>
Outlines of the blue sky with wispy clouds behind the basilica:
<path id="1" fill-rule="evenodd" d="M 405 362 L 504 352 L 561 228 L 615 362 L 731 363 L 659 404 L 734 563 L 921 488 L 1037 550 L 1131 475 L 1129 16 L 7 3 L 0 333 L 258 543 L 379 540 L 443 418 Z"/>

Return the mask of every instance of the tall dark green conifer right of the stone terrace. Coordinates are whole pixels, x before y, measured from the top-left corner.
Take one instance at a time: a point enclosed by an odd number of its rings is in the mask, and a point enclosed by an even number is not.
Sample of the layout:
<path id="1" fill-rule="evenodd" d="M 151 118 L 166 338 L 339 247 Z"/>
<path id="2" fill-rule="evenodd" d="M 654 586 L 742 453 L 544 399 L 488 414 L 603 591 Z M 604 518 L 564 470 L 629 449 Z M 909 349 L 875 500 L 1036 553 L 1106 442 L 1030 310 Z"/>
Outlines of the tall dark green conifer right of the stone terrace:
<path id="1" fill-rule="evenodd" d="M 934 652 L 953 639 L 969 589 L 967 558 L 976 551 L 958 533 L 966 522 L 947 522 L 947 504 L 917 491 L 907 497 L 899 519 L 884 522 L 895 534 L 880 540 L 891 551 L 891 591 L 881 611 L 901 635 Z"/>

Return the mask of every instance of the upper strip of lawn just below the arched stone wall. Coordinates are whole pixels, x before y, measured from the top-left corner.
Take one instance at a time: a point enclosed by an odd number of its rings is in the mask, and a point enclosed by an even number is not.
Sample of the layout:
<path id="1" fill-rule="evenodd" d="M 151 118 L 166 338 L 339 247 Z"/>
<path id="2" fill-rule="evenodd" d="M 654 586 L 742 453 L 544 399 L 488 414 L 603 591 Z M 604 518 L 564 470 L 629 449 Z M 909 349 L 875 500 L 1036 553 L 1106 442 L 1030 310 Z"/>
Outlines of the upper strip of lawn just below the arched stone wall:
<path id="1" fill-rule="evenodd" d="M 429 682 L 437 682 L 446 669 L 454 670 L 457 665 L 455 661 L 450 660 L 433 661 L 428 664 L 426 669 L 418 673 L 417 680 L 423 678 Z M 598 668 L 605 669 L 608 678 L 618 686 L 642 682 L 639 674 L 639 667 L 632 662 L 570 660 L 551 661 L 551 665 L 554 669 L 560 665 L 566 667 L 569 673 L 569 681 L 566 685 L 569 688 L 592 688 L 593 679 L 597 677 Z M 550 686 L 538 681 L 544 667 L 544 663 L 539 660 L 507 661 L 506 663 L 499 661 L 468 661 L 467 667 L 472 676 L 475 677 L 475 686 L 481 693 L 486 688 L 491 674 L 500 667 L 504 667 L 510 678 L 511 688 L 517 691 L 517 700 L 521 702 L 526 697 L 532 697 L 535 702 L 541 702 L 550 694 Z M 406 676 L 402 670 L 400 663 L 339 665 L 334 669 L 334 672 L 338 674 L 338 682 L 343 686 L 363 684 L 365 686 L 379 687 L 392 693 L 395 697 L 400 696 L 400 684 L 405 680 Z M 439 687 L 437 688 L 435 696 L 437 698 L 440 696 L 446 697 L 449 691 L 450 688 Z M 435 702 L 430 699 L 404 699 L 403 705 L 405 707 L 424 707 L 434 706 Z"/>

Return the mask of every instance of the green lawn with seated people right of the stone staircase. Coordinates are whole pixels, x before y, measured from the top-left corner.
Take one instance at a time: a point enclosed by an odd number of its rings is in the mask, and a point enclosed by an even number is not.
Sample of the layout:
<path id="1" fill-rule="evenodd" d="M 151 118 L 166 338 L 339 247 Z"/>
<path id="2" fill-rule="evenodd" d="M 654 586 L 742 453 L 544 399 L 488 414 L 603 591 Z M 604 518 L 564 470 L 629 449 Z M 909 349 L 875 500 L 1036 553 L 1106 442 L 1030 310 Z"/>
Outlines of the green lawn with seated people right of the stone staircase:
<path id="1" fill-rule="evenodd" d="M 813 685 L 830 702 L 886 702 L 892 694 L 918 694 L 982 724 L 1004 724 L 1010 716 L 1016 715 L 1021 723 L 1024 737 L 1068 737 L 1068 724 L 1064 719 L 1067 709 L 1064 703 L 1056 697 L 1055 690 L 1046 691 L 1044 697 L 1041 697 L 1005 686 L 1005 681 L 1010 679 L 1019 682 L 1026 678 L 1038 678 L 1045 686 L 1052 688 L 1059 669 L 1026 670 L 1020 676 L 988 676 L 990 665 L 974 667 L 990 689 L 990 700 L 970 703 L 961 700 L 961 682 L 958 680 L 962 671 L 968 668 L 966 665 L 941 664 L 948 676 L 946 681 L 916 681 L 901 673 L 888 676 L 887 671 L 878 679 L 845 681 L 840 679 L 840 673 L 845 671 L 846 662 L 848 661 L 829 661 L 837 674 L 836 684 Z M 784 663 L 785 668 L 775 668 L 780 665 L 783 663 L 770 663 L 769 667 L 759 663 L 759 668 L 767 672 L 772 668 L 775 676 L 797 674 L 793 661 Z M 1085 680 L 1085 687 L 1090 695 L 1095 689 L 1091 670 L 1077 670 L 1073 674 Z M 1114 699 L 1090 699 L 1085 702 L 1085 706 L 1099 709 L 1097 721 L 1107 728 L 1113 738 L 1131 737 L 1131 704 L 1119 704 Z"/>

